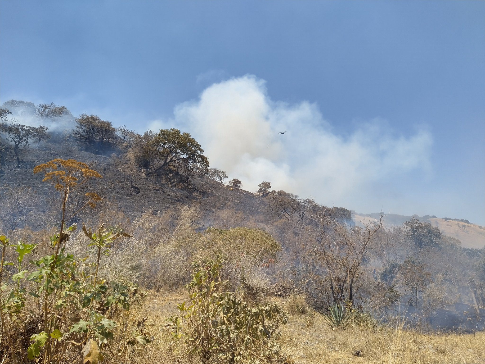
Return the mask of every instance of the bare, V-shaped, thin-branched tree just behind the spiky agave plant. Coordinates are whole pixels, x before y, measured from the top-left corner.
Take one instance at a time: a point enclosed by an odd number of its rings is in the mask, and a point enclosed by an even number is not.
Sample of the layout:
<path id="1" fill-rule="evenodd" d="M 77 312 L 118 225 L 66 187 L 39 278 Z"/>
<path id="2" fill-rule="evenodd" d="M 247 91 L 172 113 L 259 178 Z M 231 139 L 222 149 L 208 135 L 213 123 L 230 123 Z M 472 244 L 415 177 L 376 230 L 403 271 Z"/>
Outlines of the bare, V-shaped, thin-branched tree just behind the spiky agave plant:
<path id="1" fill-rule="evenodd" d="M 376 232 L 382 228 L 382 216 L 378 222 L 370 222 L 364 228 L 340 224 L 334 209 L 318 207 L 312 211 L 315 227 L 310 236 L 320 246 L 324 266 L 330 279 L 330 289 L 335 302 L 354 300 L 354 286 L 360 265 Z"/>

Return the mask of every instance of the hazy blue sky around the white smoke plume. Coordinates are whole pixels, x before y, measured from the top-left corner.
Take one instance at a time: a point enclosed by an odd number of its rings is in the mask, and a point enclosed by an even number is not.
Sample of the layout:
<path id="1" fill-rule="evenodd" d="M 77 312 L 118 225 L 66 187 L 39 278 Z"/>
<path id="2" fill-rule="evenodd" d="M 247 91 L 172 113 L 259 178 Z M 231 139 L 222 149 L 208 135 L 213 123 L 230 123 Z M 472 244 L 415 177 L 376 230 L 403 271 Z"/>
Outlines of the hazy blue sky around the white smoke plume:
<path id="1" fill-rule="evenodd" d="M 373 174 L 347 198 L 315 183 L 295 192 L 485 225 L 484 19 L 484 1 L 1 0 L 0 101 L 187 127 L 174 107 L 254 75 L 270 104 L 314 105 L 332 137 L 371 122 L 390 140 L 432 140 L 424 162 Z"/>

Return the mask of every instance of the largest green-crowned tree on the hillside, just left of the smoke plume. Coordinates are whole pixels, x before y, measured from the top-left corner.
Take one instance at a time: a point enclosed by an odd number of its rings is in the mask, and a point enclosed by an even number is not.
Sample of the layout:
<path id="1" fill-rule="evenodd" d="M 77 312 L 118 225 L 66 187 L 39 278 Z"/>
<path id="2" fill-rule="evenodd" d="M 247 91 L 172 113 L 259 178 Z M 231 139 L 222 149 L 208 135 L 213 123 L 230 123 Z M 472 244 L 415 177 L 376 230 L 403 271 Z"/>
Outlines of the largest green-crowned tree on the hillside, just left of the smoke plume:
<path id="1" fill-rule="evenodd" d="M 182 159 L 201 167 L 209 167 L 209 160 L 202 154 L 204 150 L 188 132 L 178 129 L 162 129 L 148 143 L 154 165 L 147 175 L 155 173 Z"/>

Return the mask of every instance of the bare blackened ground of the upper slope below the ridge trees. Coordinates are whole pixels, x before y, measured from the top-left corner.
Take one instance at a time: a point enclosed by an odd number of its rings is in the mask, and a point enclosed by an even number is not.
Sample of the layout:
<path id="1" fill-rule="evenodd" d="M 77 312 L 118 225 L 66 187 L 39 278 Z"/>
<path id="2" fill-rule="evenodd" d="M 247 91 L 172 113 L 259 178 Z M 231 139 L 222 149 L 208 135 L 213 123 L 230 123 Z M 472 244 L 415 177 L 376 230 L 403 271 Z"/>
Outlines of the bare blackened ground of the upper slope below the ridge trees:
<path id="1" fill-rule="evenodd" d="M 115 154 L 96 155 L 77 148 L 73 142 L 63 145 L 44 143 L 25 151 L 24 162 L 17 166 L 15 161 L 3 161 L 0 166 L 0 190 L 25 185 L 32 187 L 41 197 L 48 196 L 49 185 L 42 183 L 42 177 L 32 173 L 33 167 L 54 158 L 76 159 L 91 165 L 103 179 L 98 182 L 100 194 L 114 208 L 133 218 L 154 209 L 163 211 L 185 205 L 196 204 L 207 216 L 219 209 L 241 211 L 247 215 L 259 214 L 265 206 L 251 192 L 242 189 L 228 189 L 220 182 L 207 177 L 194 179 L 192 188 L 178 188 L 179 183 L 161 181 L 146 177 L 138 168 L 128 166 Z M 167 178 L 173 177 L 168 175 Z"/>

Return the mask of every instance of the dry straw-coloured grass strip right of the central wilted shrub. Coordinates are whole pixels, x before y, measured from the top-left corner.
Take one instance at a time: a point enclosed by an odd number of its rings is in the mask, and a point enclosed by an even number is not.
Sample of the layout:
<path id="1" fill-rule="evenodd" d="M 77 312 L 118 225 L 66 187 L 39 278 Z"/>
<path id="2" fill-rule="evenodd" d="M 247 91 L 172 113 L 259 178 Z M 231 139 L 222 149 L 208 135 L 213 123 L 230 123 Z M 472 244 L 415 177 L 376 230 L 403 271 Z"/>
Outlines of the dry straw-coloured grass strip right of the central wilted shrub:
<path id="1" fill-rule="evenodd" d="M 283 349 L 298 363 L 485 363 L 485 333 L 425 335 L 402 328 L 331 330 L 320 315 L 314 325 L 292 317 Z"/>

